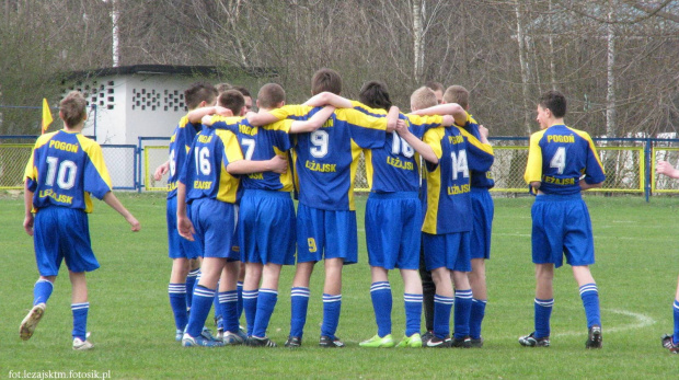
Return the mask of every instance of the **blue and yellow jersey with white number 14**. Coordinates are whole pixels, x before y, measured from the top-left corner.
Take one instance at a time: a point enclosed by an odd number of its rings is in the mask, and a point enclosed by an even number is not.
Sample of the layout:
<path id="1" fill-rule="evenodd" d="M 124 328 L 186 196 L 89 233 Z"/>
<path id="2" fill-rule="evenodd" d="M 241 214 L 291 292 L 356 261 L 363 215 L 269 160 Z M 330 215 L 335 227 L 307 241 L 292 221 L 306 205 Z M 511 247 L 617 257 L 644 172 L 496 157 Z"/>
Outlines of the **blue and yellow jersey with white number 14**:
<path id="1" fill-rule="evenodd" d="M 487 171 L 493 164 L 493 148 L 454 126 L 427 130 L 424 142 L 439 161 L 426 165 L 427 210 L 422 231 L 471 231 L 470 171 Z"/>

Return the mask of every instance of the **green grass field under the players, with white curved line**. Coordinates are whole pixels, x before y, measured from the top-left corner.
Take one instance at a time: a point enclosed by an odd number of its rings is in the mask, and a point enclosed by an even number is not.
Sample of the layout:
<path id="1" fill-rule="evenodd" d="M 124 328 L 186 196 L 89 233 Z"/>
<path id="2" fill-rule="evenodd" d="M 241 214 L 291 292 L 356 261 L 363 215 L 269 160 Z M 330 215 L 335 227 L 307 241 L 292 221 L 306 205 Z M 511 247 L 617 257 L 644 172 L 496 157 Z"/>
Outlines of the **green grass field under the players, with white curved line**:
<path id="1" fill-rule="evenodd" d="M 601 296 L 603 349 L 586 350 L 586 322 L 577 285 L 567 266 L 556 272 L 552 347 L 525 348 L 517 337 L 532 331 L 534 297 L 530 258 L 531 198 L 496 199 L 490 300 L 482 349 L 366 349 L 358 342 L 376 331 L 370 302 L 362 209 L 358 199 L 359 264 L 344 272 L 337 335 L 344 349 L 317 346 L 322 316 L 322 265 L 312 277 L 304 345 L 300 349 L 225 347 L 185 349 L 174 342 L 168 301 L 171 261 L 166 256 L 164 198 L 161 194 L 119 194 L 142 231 L 128 226 L 103 203 L 90 218 L 101 269 L 88 275 L 91 311 L 88 330 L 95 349 L 71 350 L 70 285 L 66 268 L 57 279 L 45 318 L 27 342 L 18 329 L 30 309 L 37 278 L 33 242 L 23 232 L 20 195 L 0 195 L 0 378 L 23 371 L 110 371 L 114 379 L 165 378 L 675 378 L 677 360 L 660 347 L 671 331 L 677 285 L 676 228 L 679 199 L 587 197 L 595 231 L 592 274 Z M 285 268 L 268 335 L 280 346 L 289 327 Z M 403 335 L 402 284 L 391 276 L 393 333 Z M 211 320 L 211 319 L 210 319 Z M 243 318 L 244 321 L 244 318 Z M 243 322 L 244 323 L 244 322 Z M 249 365 L 245 365 L 249 364 Z M 11 372 L 12 371 L 12 372 Z M 675 375 L 672 375 L 675 373 Z"/>

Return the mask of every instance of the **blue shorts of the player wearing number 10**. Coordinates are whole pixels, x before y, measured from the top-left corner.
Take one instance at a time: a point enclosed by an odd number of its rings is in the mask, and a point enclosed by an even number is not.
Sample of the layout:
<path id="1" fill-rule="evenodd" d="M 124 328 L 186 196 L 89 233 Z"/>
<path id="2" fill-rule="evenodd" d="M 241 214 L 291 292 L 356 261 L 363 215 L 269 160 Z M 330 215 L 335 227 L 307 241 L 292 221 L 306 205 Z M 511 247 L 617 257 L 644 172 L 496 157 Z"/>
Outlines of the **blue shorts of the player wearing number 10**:
<path id="1" fill-rule="evenodd" d="M 41 276 L 57 276 L 61 261 L 74 273 L 99 268 L 90 243 L 88 215 L 67 207 L 41 208 L 33 223 L 35 262 Z"/>

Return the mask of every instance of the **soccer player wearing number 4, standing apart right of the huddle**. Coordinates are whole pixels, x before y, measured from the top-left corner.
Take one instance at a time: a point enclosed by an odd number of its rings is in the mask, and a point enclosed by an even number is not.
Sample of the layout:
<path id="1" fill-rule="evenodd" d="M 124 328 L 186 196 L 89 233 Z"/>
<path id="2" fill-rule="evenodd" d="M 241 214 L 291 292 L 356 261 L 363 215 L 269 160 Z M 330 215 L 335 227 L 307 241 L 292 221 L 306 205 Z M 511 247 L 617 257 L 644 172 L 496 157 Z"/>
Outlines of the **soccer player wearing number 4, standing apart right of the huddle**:
<path id="1" fill-rule="evenodd" d="M 530 137 L 523 179 L 537 192 L 532 214 L 532 260 L 536 264 L 534 332 L 521 336 L 528 347 L 550 346 L 554 304 L 554 268 L 566 263 L 579 287 L 589 334 L 586 348 L 601 348 L 599 292 L 589 265 L 595 263 L 594 237 L 583 191 L 601 187 L 603 166 L 589 135 L 566 127 L 566 97 L 548 91 L 538 103 L 540 131 Z M 580 177 L 584 175 L 584 179 Z"/>

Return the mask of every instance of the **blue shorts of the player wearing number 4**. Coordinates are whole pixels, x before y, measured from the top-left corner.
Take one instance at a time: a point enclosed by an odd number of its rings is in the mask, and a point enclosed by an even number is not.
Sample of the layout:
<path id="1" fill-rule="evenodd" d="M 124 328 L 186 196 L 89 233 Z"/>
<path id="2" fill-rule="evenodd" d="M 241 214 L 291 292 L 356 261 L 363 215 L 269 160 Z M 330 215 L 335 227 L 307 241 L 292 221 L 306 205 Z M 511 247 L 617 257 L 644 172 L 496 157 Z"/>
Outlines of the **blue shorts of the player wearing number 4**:
<path id="1" fill-rule="evenodd" d="M 533 203 L 532 253 L 536 264 L 591 265 L 594 237 L 587 205 L 579 194 L 538 195 Z"/>

